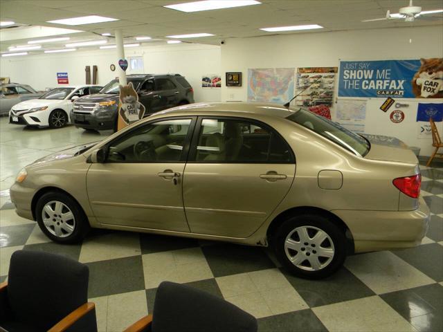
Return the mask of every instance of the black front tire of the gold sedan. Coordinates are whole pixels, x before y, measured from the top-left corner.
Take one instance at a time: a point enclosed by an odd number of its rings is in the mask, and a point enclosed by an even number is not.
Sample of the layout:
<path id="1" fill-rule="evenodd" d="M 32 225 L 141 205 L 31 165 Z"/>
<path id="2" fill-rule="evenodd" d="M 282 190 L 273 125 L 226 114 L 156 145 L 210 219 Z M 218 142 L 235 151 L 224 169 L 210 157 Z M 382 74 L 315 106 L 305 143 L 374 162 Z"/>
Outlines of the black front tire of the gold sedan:
<path id="1" fill-rule="evenodd" d="M 65 221 L 65 225 L 69 224 L 73 228 L 71 234 L 66 235 L 68 232 L 64 231 L 63 229 L 61 231 L 62 233 L 64 232 L 64 234 L 62 234 L 61 237 L 53 234 L 53 232 L 55 232 L 55 223 L 59 222 L 61 225 L 60 228 L 63 228 L 62 219 L 57 218 L 55 214 L 50 218 L 51 221 L 53 221 L 52 225 L 50 225 L 48 228 L 46 228 L 46 225 L 44 225 L 43 209 L 45 208 L 45 205 L 54 201 L 61 202 L 63 205 L 65 205 L 65 208 L 71 210 L 73 214 L 73 220 L 71 219 L 69 221 Z M 64 209 L 64 212 L 62 210 L 59 216 L 65 214 L 66 212 L 68 212 L 66 209 Z M 45 212 L 45 215 L 47 217 L 48 213 Z M 87 216 L 82 210 L 82 207 L 71 196 L 64 194 L 63 192 L 47 192 L 42 197 L 40 197 L 35 206 L 35 216 L 37 217 L 39 228 L 42 230 L 42 232 L 44 232 L 46 237 L 58 243 L 78 243 L 82 241 L 82 239 L 84 239 L 86 234 L 89 232 L 89 229 L 91 228 Z M 50 231 L 50 229 L 52 232 Z"/>

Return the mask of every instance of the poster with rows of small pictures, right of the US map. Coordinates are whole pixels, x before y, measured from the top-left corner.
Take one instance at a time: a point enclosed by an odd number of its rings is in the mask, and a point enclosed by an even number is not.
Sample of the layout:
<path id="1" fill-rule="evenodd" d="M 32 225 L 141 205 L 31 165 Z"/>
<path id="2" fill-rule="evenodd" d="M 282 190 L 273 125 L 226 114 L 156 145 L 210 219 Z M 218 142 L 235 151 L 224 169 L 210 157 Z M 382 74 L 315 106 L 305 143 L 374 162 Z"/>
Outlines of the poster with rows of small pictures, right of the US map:
<path id="1" fill-rule="evenodd" d="M 337 67 L 297 68 L 296 105 L 332 106 Z"/>

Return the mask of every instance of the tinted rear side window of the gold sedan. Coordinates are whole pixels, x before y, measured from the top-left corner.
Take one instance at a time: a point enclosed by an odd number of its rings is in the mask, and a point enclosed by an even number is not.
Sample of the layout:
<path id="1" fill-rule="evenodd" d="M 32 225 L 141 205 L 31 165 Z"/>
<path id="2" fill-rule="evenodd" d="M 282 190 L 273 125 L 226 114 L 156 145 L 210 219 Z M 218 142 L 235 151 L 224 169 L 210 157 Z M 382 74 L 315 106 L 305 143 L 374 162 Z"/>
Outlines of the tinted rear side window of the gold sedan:
<path id="1" fill-rule="evenodd" d="M 292 163 L 287 142 L 273 130 L 244 120 L 203 119 L 196 161 Z"/>

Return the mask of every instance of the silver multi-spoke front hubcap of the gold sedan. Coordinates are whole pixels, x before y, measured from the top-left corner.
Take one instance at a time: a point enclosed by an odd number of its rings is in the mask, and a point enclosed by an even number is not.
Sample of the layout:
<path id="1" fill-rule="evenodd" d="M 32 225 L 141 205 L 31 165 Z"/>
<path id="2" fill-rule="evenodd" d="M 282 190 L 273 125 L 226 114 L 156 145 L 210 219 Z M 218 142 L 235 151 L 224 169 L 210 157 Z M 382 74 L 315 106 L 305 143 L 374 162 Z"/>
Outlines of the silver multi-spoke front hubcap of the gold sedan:
<path id="1" fill-rule="evenodd" d="M 56 237 L 69 237 L 75 229 L 72 211 L 60 201 L 51 201 L 42 210 L 43 224 Z"/>

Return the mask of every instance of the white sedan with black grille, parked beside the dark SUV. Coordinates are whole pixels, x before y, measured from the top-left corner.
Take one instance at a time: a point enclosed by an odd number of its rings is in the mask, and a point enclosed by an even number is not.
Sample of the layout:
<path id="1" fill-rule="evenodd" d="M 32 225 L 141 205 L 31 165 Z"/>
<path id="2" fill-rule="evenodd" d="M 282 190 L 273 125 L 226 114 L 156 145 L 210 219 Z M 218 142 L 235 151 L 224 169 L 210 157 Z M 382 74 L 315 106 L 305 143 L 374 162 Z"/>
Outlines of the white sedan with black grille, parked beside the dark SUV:
<path id="1" fill-rule="evenodd" d="M 69 123 L 73 100 L 84 95 L 98 93 L 102 86 L 81 85 L 55 88 L 39 99 L 15 104 L 9 112 L 11 124 L 61 128 Z"/>

